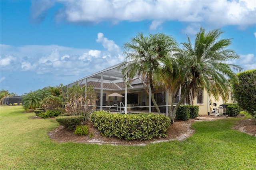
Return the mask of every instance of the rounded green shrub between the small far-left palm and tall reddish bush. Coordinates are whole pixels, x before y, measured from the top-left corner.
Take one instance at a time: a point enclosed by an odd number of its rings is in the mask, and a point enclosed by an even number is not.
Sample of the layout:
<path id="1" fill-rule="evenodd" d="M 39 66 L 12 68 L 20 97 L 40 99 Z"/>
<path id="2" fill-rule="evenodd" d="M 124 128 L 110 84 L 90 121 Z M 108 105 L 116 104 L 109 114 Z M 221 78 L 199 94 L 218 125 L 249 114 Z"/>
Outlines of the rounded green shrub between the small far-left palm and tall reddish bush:
<path id="1" fill-rule="evenodd" d="M 44 110 L 56 110 L 62 105 L 62 99 L 56 96 L 48 96 L 42 100 Z"/>

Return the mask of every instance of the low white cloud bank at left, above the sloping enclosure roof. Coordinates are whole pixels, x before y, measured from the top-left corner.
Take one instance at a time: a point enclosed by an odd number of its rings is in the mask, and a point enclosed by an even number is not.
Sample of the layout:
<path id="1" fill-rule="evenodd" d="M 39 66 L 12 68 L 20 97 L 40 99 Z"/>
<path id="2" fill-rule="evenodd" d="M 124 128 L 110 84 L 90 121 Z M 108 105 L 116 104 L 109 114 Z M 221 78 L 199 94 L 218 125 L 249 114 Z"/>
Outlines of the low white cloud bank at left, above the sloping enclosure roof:
<path id="1" fill-rule="evenodd" d="M 1 70 L 33 71 L 53 75 L 90 74 L 124 60 L 122 51 L 102 33 L 97 42 L 106 50 L 77 49 L 59 45 L 25 45 L 14 47 L 1 44 Z"/>

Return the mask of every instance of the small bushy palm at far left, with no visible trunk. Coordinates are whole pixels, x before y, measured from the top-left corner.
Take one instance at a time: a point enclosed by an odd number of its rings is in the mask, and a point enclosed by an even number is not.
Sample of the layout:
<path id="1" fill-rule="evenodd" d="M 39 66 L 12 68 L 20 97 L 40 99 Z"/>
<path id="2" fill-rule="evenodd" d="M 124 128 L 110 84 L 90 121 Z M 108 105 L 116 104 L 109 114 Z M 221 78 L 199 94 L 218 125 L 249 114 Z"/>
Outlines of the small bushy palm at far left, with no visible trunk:
<path id="1" fill-rule="evenodd" d="M 36 109 L 41 106 L 41 94 L 38 91 L 30 91 L 30 93 L 25 93 L 22 96 L 22 107 L 25 110 Z"/>

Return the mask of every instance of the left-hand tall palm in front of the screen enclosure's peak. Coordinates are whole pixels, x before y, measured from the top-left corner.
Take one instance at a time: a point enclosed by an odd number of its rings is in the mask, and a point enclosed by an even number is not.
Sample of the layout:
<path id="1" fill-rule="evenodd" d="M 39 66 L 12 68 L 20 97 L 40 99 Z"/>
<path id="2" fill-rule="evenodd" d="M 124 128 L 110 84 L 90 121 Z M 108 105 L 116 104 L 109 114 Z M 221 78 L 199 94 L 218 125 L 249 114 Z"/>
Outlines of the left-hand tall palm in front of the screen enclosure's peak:
<path id="1" fill-rule="evenodd" d="M 154 99 L 154 88 L 162 85 L 163 67 L 172 68 L 171 53 L 177 47 L 176 40 L 166 34 L 138 33 L 130 42 L 124 44 L 126 59 L 119 67 L 127 77 L 127 83 L 139 76 L 147 89 L 151 89 L 152 102 L 158 113 L 160 110 Z"/>

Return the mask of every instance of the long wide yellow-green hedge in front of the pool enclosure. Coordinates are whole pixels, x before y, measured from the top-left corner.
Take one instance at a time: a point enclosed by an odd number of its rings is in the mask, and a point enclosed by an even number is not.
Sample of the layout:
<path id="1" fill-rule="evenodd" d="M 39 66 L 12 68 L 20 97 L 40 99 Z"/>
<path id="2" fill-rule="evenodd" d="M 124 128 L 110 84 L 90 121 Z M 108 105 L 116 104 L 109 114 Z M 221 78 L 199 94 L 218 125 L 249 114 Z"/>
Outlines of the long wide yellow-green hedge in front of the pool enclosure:
<path id="1" fill-rule="evenodd" d="M 124 138 L 126 140 L 150 140 L 167 137 L 165 132 L 170 126 L 170 118 L 153 113 L 112 114 L 96 111 L 91 114 L 94 127 L 108 137 Z"/>

